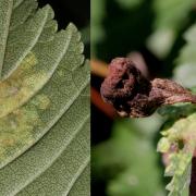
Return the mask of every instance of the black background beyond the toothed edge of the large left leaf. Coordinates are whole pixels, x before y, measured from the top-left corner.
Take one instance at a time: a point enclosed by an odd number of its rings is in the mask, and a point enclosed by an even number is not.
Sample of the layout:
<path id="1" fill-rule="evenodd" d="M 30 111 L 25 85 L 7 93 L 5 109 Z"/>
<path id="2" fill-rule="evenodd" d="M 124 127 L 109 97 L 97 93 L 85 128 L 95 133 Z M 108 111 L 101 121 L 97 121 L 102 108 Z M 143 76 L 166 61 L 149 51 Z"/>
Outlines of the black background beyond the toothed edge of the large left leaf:
<path id="1" fill-rule="evenodd" d="M 85 56 L 90 57 L 90 0 L 38 0 L 39 7 L 50 4 L 56 13 L 59 29 L 65 28 L 69 23 L 74 23 L 82 33 L 85 44 Z"/>

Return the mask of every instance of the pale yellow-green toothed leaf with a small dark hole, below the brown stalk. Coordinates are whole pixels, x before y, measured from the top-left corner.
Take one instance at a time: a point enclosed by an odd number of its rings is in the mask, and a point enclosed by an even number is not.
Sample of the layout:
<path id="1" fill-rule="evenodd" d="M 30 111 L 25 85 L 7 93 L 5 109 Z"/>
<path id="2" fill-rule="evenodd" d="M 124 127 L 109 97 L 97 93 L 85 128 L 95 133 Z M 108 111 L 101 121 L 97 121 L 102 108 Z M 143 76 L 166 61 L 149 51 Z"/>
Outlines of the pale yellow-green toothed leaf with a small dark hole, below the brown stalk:
<path id="1" fill-rule="evenodd" d="M 183 113 L 185 107 L 189 109 Z M 161 130 L 162 138 L 158 143 L 158 151 L 169 157 L 166 175 L 172 176 L 167 186 L 170 196 L 188 195 L 192 157 L 196 146 L 196 113 L 193 109 L 195 107 L 189 103 L 181 103 L 167 107 L 164 111 L 169 113 L 169 120 Z"/>

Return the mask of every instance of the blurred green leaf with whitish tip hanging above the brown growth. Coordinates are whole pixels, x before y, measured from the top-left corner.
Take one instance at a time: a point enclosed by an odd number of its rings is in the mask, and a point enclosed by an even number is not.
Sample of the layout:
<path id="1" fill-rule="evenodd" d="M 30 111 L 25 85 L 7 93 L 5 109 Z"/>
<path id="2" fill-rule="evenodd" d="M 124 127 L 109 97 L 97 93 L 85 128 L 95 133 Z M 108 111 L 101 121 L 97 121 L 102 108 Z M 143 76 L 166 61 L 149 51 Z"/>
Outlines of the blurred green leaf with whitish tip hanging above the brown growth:
<path id="1" fill-rule="evenodd" d="M 164 58 L 170 52 L 177 33 L 187 23 L 188 14 L 194 7 L 195 0 L 154 1 L 152 9 L 156 14 L 154 33 L 147 46 L 155 54 Z"/>

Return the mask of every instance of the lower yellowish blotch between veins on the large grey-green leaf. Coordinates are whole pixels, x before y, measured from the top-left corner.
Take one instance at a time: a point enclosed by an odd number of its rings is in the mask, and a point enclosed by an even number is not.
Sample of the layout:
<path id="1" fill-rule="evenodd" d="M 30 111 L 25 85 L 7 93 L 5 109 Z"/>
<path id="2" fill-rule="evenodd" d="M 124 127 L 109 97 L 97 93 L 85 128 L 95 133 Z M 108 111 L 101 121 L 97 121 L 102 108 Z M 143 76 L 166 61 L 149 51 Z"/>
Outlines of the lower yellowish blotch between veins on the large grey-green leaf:
<path id="1" fill-rule="evenodd" d="M 40 94 L 28 105 L 0 118 L 0 161 L 34 144 L 34 131 L 42 123 L 38 110 L 46 110 L 49 105 L 48 96 Z"/>

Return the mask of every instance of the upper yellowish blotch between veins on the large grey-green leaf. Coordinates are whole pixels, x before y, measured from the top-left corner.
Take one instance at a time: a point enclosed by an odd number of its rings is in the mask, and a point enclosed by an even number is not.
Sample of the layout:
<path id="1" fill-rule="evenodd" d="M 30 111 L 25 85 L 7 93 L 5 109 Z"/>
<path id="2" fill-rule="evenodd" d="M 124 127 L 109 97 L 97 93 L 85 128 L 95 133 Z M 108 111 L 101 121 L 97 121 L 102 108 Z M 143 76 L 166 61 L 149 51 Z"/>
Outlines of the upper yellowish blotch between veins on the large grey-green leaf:
<path id="1" fill-rule="evenodd" d="M 0 118 L 27 101 L 47 79 L 47 73 L 37 71 L 37 58 L 29 52 L 14 73 L 0 82 Z"/>

